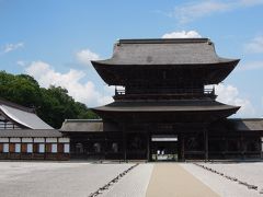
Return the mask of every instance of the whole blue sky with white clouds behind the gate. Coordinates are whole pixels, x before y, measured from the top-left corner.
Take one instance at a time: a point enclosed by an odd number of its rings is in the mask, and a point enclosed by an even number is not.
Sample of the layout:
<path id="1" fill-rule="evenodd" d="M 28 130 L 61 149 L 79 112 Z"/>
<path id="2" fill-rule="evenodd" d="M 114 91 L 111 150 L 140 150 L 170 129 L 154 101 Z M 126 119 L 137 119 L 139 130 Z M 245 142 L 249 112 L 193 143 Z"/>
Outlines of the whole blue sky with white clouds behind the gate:
<path id="1" fill-rule="evenodd" d="M 118 38 L 208 37 L 219 56 L 240 58 L 217 86 L 241 105 L 237 117 L 263 116 L 263 0 L 0 0 L 0 70 L 61 85 L 88 106 L 111 102 L 90 59 L 110 58 Z"/>

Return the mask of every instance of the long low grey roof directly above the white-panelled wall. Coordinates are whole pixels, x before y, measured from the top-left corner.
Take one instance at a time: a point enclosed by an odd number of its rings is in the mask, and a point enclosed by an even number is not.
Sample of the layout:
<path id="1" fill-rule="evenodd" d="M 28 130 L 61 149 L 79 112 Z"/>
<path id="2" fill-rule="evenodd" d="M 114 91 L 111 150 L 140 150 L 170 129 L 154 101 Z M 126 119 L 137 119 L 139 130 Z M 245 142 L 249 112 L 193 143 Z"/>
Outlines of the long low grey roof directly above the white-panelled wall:
<path id="1" fill-rule="evenodd" d="M 8 129 L 0 130 L 1 138 L 15 138 L 15 137 L 36 137 L 36 138 L 59 138 L 62 137 L 62 134 L 55 129 Z"/>

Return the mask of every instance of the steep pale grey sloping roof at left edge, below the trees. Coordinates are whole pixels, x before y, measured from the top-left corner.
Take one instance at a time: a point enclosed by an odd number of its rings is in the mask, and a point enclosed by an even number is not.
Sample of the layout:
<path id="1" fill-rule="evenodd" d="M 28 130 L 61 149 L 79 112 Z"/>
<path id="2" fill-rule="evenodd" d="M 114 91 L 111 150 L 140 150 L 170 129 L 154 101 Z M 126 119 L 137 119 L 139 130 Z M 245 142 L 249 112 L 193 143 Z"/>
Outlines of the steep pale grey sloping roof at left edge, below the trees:
<path id="1" fill-rule="evenodd" d="M 43 121 L 33 109 L 0 100 L 0 111 L 11 120 L 30 129 L 54 129 Z"/>

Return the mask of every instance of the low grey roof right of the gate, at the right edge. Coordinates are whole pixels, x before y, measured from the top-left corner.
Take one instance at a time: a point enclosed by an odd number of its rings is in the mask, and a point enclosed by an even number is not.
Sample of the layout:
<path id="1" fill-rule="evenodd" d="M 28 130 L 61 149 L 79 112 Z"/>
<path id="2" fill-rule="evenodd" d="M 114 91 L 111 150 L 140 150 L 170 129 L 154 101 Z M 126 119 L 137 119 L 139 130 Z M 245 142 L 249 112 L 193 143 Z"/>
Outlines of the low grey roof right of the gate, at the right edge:
<path id="1" fill-rule="evenodd" d="M 229 119 L 236 130 L 262 130 L 263 118 Z"/>

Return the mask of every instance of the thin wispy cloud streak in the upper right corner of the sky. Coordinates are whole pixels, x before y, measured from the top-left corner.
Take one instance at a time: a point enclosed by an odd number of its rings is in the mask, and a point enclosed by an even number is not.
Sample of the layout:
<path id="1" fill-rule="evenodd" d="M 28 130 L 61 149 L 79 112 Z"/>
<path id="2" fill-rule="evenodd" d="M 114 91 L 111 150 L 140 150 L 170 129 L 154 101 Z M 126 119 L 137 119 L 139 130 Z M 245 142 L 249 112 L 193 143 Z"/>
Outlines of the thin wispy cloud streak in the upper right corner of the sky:
<path id="1" fill-rule="evenodd" d="M 175 7 L 173 12 L 169 13 L 168 15 L 175 16 L 180 23 L 187 23 L 215 13 L 226 12 L 240 8 L 254 7 L 259 4 L 263 4 L 263 0 L 192 1 Z"/>

